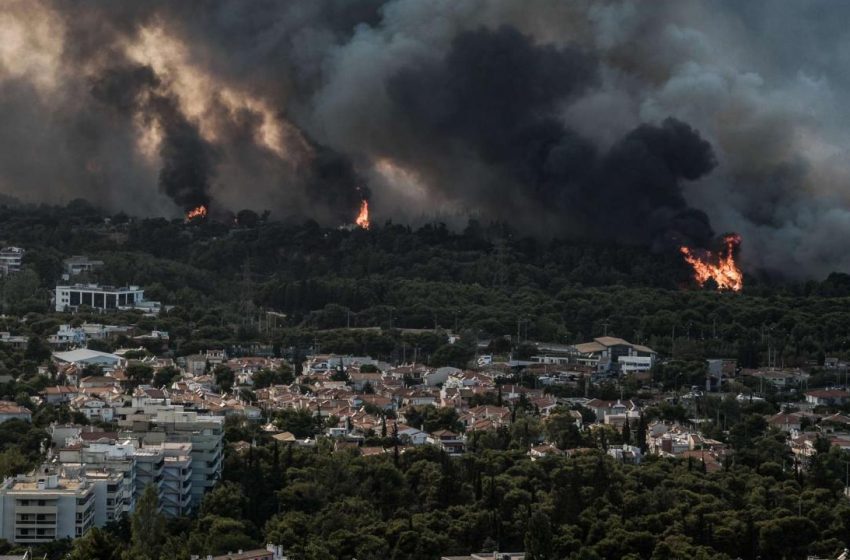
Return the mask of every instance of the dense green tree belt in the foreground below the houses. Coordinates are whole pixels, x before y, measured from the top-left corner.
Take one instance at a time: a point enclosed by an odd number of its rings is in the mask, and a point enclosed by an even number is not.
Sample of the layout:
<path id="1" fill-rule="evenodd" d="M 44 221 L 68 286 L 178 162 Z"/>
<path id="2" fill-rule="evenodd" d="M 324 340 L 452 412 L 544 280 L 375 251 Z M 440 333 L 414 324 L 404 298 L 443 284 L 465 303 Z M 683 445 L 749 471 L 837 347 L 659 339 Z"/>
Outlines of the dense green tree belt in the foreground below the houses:
<path id="1" fill-rule="evenodd" d="M 735 440 L 747 453 L 713 473 L 699 459 L 626 465 L 602 450 L 533 461 L 521 427 L 453 459 L 427 446 L 393 453 L 390 445 L 370 457 L 305 450 L 230 423 L 231 441 L 256 444 L 229 449 L 224 481 L 195 517 L 166 524 L 155 497 L 153 506 L 143 498 L 129 522 L 74 542 L 71 558 L 188 558 L 266 542 L 298 560 L 492 550 L 525 550 L 529 560 L 837 554 L 850 534 L 846 456 L 834 448 L 805 474 L 783 468 L 782 436 L 754 418 Z"/>

